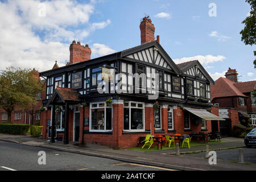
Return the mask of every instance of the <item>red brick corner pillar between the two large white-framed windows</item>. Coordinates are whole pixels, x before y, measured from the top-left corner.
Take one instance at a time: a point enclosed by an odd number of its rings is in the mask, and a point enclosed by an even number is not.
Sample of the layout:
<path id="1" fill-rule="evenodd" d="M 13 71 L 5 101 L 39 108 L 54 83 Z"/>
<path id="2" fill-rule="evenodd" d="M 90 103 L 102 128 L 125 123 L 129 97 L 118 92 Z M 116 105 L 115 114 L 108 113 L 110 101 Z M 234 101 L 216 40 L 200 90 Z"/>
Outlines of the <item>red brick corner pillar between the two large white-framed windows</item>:
<path id="1" fill-rule="evenodd" d="M 123 131 L 123 100 L 113 100 L 113 147 L 118 148 L 122 142 L 122 131 Z"/>

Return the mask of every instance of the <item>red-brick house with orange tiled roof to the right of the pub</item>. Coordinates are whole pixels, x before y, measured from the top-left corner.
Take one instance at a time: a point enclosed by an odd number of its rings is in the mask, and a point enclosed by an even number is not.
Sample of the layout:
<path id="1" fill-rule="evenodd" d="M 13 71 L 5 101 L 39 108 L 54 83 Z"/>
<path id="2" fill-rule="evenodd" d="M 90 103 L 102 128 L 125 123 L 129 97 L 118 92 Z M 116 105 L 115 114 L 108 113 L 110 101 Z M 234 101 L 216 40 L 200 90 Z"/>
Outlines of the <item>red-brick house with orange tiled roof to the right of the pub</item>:
<path id="1" fill-rule="evenodd" d="M 219 115 L 226 121 L 220 122 L 222 135 L 232 135 L 234 125 L 251 119 L 251 125 L 256 126 L 256 98 L 253 91 L 256 81 L 238 82 L 236 69 L 226 72 L 225 78 L 220 77 L 211 85 L 211 100 L 219 107 Z"/>

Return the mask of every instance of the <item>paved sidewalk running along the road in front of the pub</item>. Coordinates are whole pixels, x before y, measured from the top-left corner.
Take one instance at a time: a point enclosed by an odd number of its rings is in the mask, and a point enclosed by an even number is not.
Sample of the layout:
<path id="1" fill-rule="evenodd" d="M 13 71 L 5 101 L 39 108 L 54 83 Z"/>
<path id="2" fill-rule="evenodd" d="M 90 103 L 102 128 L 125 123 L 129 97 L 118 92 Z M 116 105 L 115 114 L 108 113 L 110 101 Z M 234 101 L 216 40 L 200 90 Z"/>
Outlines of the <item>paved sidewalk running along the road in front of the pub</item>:
<path id="1" fill-rule="evenodd" d="M 103 158 L 120 160 L 127 163 L 146 164 L 150 166 L 165 167 L 178 170 L 232 170 L 232 171 L 250 171 L 256 170 L 256 164 L 238 164 L 231 163 L 228 160 L 217 159 L 217 165 L 210 165 L 208 159 L 197 158 L 188 155 L 174 155 L 175 150 L 156 150 L 152 152 L 142 152 L 135 150 L 113 150 L 108 146 L 101 146 L 100 144 L 87 143 L 85 146 L 79 146 L 78 143 L 70 142 L 64 145 L 63 142 L 49 143 L 46 139 L 35 137 L 26 137 L 23 135 L 0 134 L 0 140 L 6 142 L 15 142 L 20 144 L 27 144 L 30 146 L 38 146 L 43 148 L 51 148 L 53 150 L 61 150 L 66 152 L 75 152 L 77 154 L 84 154 L 90 156 L 98 156 Z M 223 138 L 224 143 L 211 144 L 210 150 L 224 150 L 228 148 L 244 147 L 243 139 L 240 138 Z M 185 152 L 200 152 L 204 151 L 205 146 L 195 146 L 190 150 L 188 148 L 181 148 L 181 154 Z"/>

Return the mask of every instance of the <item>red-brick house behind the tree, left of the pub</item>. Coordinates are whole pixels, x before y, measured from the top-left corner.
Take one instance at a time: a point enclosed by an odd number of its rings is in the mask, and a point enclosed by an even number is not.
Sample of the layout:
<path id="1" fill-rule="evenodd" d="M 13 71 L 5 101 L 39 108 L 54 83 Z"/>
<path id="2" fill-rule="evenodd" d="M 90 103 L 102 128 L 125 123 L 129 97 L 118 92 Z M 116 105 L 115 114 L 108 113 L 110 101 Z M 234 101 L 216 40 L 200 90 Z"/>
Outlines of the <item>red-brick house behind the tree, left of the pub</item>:
<path id="1" fill-rule="evenodd" d="M 45 80 L 39 79 L 39 72 L 35 69 L 33 70 L 33 77 L 38 78 L 39 84 L 43 85 L 44 88 Z M 11 123 L 27 124 L 32 125 L 34 123 L 40 123 L 40 107 L 43 105 L 43 100 L 46 98 L 46 92 L 43 90 L 38 93 L 35 97 L 36 103 L 32 105 L 32 108 L 21 108 L 16 106 L 13 113 L 11 114 Z M 0 122 L 7 122 L 7 113 L 5 110 L 0 110 L 1 118 Z"/>

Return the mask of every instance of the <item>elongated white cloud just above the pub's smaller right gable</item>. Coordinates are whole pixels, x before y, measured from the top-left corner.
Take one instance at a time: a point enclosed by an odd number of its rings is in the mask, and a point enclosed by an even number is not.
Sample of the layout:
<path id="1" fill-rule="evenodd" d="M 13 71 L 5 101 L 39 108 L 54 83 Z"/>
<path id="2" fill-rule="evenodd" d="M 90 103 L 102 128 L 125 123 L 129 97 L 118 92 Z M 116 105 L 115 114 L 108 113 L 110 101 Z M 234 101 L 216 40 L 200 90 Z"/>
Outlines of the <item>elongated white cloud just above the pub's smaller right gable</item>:
<path id="1" fill-rule="evenodd" d="M 212 55 L 206 55 L 206 56 L 202 56 L 202 55 L 198 55 L 198 56 L 193 56 L 193 57 L 183 57 L 181 59 L 174 59 L 174 62 L 176 64 L 180 64 L 180 63 L 184 63 L 187 61 L 192 61 L 192 60 L 199 60 L 199 62 L 202 65 L 208 65 L 210 63 L 215 63 L 218 61 L 223 61 L 224 59 L 226 59 L 226 57 L 224 56 L 212 56 Z"/>

